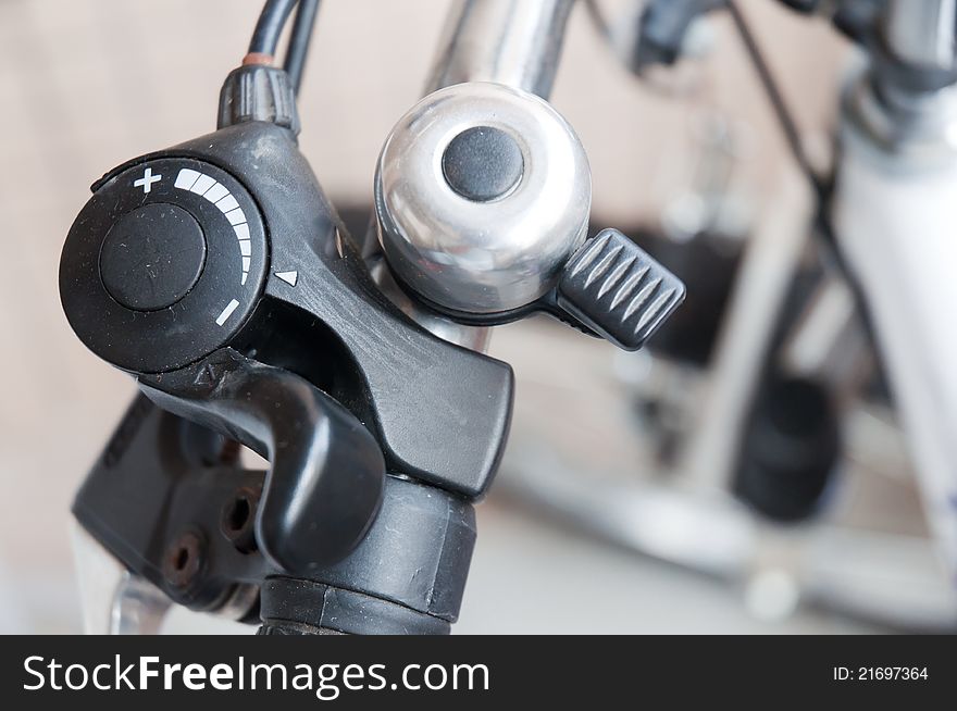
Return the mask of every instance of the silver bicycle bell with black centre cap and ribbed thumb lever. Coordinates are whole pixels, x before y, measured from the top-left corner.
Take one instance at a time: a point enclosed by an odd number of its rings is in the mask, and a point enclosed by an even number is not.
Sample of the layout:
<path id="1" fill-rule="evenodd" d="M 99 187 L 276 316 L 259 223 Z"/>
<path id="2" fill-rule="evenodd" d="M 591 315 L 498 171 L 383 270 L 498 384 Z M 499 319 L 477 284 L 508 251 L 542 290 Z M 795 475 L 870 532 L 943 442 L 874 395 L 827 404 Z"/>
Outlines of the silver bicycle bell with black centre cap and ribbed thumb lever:
<path id="1" fill-rule="evenodd" d="M 637 350 L 685 288 L 618 230 L 586 239 L 591 204 L 571 125 L 537 96 L 485 82 L 415 104 L 375 175 L 378 239 L 410 297 L 476 326 L 544 311 Z"/>

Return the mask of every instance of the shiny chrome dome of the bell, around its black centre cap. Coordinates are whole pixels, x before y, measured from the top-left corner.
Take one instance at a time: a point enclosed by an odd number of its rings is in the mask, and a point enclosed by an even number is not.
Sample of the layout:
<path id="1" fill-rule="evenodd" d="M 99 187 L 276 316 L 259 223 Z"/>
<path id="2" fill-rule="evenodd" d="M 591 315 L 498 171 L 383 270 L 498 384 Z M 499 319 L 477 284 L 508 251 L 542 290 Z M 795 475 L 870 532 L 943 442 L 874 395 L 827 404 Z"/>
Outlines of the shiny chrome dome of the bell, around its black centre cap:
<path id="1" fill-rule="evenodd" d="M 446 147 L 492 126 L 521 147 L 524 174 L 507 196 L 474 202 L 447 184 Z M 375 175 L 378 238 L 390 269 L 430 301 L 495 313 L 550 289 L 584 241 L 592 205 L 588 159 L 546 101 L 470 82 L 428 95 L 396 124 Z"/>

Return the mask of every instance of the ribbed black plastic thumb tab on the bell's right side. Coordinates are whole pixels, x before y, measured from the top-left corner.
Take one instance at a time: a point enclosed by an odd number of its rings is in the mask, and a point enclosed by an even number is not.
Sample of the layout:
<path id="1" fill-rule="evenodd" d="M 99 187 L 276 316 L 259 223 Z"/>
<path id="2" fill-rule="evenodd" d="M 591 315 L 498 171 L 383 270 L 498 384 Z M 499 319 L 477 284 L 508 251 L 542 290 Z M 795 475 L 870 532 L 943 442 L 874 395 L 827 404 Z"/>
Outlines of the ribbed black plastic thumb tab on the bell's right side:
<path id="1" fill-rule="evenodd" d="M 605 229 L 566 265 L 557 301 L 619 348 L 638 350 L 684 295 L 681 279 L 617 229 Z"/>

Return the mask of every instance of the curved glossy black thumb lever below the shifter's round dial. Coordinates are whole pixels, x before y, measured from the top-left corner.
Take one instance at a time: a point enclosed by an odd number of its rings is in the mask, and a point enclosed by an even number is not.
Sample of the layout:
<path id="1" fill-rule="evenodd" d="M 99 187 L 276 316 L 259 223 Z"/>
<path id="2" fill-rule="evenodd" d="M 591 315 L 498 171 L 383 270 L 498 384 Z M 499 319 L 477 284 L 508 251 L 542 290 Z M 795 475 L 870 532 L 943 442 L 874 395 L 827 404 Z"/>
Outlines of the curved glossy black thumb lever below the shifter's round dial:
<path id="1" fill-rule="evenodd" d="M 278 570 L 306 575 L 362 540 L 382 501 L 385 461 L 369 431 L 331 397 L 228 348 L 139 383 L 167 412 L 270 460 L 256 540 Z"/>

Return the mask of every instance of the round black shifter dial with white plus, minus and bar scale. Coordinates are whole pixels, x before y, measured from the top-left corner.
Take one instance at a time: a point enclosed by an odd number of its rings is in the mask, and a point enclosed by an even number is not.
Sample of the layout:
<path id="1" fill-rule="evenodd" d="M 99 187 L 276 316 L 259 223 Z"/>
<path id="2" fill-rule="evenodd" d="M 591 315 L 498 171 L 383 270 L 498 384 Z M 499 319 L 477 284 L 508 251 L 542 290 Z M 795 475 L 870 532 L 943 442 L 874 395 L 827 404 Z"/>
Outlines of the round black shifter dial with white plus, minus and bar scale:
<path id="1" fill-rule="evenodd" d="M 228 342 L 256 307 L 269 261 L 247 190 L 187 158 L 122 167 L 94 188 L 60 267 L 66 317 L 87 347 L 158 373 Z"/>

